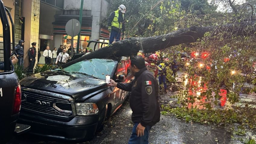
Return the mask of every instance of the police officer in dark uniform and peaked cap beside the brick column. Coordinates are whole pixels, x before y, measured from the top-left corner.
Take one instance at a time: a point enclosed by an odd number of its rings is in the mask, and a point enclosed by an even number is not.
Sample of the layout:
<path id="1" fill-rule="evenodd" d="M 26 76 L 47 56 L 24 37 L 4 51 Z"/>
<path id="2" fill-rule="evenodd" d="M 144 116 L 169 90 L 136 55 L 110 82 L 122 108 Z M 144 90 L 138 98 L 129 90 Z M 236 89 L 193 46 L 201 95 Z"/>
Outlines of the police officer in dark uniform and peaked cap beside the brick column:
<path id="1" fill-rule="evenodd" d="M 31 43 L 32 47 L 29 48 L 28 51 L 28 61 L 29 61 L 29 66 L 28 66 L 28 72 L 33 73 L 34 65 L 36 62 L 36 55 L 37 55 L 37 50 L 36 50 L 36 45 L 37 43 Z"/>

